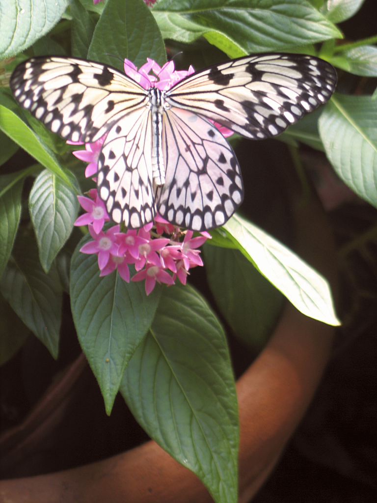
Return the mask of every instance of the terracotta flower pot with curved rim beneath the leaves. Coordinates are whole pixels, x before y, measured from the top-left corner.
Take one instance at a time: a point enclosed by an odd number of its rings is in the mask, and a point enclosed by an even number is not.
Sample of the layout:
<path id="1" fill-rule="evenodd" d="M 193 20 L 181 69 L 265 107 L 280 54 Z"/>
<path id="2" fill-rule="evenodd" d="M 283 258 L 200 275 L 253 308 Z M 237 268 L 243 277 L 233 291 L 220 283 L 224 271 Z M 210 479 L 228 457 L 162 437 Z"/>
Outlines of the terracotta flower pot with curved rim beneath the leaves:
<path id="1" fill-rule="evenodd" d="M 305 205 L 300 201 L 296 197 L 292 202 L 296 251 L 328 278 L 336 296 L 335 249 L 326 217 L 315 200 Z M 329 358 L 333 332 L 334 327 L 308 318 L 287 304 L 269 343 L 238 379 L 240 503 L 249 501 L 266 480 L 303 417 Z M 83 358 L 77 360 L 69 369 L 70 374 L 54 384 L 61 387 L 60 398 L 64 396 L 64 386 L 69 387 L 72 375 L 84 365 Z M 53 428 L 64 400 L 60 404 L 49 403 L 45 395 L 45 406 L 55 407 L 50 415 Z M 20 428 L 31 428 L 33 421 L 38 421 L 36 415 L 30 414 Z M 12 435 L 17 435 L 17 431 L 8 434 L 8 441 L 12 441 Z M 204 503 L 212 498 L 192 472 L 153 441 L 86 466 L 0 481 L 1 503 L 61 501 Z"/>

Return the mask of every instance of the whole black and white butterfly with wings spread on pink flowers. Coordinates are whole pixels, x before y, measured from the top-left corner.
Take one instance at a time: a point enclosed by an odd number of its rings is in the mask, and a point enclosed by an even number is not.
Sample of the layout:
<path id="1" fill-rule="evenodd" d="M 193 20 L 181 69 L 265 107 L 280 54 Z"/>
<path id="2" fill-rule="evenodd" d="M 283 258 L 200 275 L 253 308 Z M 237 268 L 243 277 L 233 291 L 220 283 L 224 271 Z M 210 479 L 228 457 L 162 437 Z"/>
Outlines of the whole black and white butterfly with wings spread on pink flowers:
<path id="1" fill-rule="evenodd" d="M 115 222 L 139 228 L 158 212 L 196 231 L 223 225 L 244 195 L 235 153 L 210 120 L 269 138 L 326 103 L 335 85 L 329 63 L 288 53 L 213 65 L 167 91 L 69 57 L 29 59 L 10 80 L 21 106 L 65 140 L 106 135 L 97 186 Z"/>

